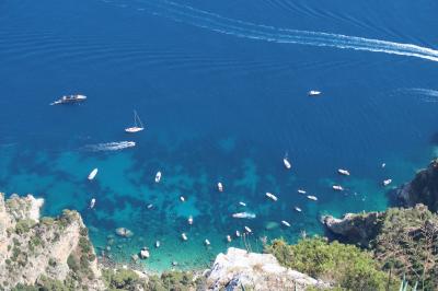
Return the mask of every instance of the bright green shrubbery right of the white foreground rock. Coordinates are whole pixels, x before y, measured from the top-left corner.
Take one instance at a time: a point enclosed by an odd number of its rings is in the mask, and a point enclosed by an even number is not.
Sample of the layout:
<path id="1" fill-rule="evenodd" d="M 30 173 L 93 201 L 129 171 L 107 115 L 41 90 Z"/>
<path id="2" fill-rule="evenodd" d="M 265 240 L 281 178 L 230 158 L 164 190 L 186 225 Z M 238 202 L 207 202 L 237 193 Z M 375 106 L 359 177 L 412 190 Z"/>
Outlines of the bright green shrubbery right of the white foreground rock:
<path id="1" fill-rule="evenodd" d="M 303 238 L 296 245 L 275 240 L 265 247 L 286 267 L 334 282 L 345 290 L 396 290 L 397 280 L 379 269 L 370 254 L 353 245 Z"/>

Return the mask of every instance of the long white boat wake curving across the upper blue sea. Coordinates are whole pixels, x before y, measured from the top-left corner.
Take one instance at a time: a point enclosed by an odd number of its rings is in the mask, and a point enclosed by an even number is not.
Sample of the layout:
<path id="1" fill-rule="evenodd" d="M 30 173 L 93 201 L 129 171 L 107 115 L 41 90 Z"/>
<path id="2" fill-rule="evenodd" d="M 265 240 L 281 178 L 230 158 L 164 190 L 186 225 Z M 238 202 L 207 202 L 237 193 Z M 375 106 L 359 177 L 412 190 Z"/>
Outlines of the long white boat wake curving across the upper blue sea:
<path id="1" fill-rule="evenodd" d="M 120 5 L 125 0 L 105 0 Z M 221 16 L 189 5 L 166 0 L 132 1 L 129 7 L 139 12 L 148 12 L 176 22 L 192 24 L 221 34 L 260 39 L 279 44 L 298 44 L 320 47 L 334 47 L 372 53 L 416 57 L 438 61 L 438 50 L 413 44 L 348 36 L 341 34 L 310 32 L 261 25 Z M 124 5 L 126 8 L 126 5 Z"/>

